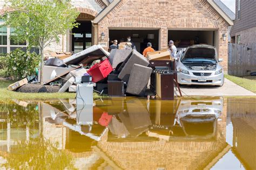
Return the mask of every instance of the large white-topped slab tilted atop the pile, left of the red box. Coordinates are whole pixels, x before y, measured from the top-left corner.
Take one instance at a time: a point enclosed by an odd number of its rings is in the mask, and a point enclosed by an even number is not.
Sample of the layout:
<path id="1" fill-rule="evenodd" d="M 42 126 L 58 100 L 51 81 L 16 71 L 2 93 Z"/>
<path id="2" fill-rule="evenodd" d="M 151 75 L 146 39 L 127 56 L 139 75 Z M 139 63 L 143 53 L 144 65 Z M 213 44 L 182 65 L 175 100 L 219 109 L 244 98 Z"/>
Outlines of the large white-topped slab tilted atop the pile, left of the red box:
<path id="1" fill-rule="evenodd" d="M 101 58 L 103 56 L 109 57 L 109 54 L 110 53 L 105 51 L 101 45 L 93 45 L 90 48 L 86 48 L 82 52 L 76 53 L 68 58 L 63 59 L 63 62 L 66 65 L 76 65 L 77 63 L 82 63 L 82 61 L 89 56 L 99 56 L 99 58 Z"/>

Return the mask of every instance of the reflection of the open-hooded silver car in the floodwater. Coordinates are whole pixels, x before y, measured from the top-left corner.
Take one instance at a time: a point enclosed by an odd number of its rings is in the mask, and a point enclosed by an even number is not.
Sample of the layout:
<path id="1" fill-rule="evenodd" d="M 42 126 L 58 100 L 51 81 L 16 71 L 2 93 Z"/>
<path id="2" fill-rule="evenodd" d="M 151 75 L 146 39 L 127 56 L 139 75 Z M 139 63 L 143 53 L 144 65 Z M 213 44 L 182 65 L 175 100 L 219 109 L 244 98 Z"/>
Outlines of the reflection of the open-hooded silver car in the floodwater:
<path id="1" fill-rule="evenodd" d="M 176 123 L 186 136 L 214 136 L 217 119 L 223 111 L 223 98 L 183 100 L 176 115 Z"/>

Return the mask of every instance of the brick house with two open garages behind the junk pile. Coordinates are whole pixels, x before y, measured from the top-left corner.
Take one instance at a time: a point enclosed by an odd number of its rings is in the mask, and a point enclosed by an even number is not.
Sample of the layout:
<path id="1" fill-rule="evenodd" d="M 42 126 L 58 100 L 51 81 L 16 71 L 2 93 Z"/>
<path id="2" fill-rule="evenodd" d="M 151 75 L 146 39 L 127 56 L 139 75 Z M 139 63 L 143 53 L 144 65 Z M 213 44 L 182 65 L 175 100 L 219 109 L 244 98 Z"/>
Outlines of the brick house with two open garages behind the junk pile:
<path id="1" fill-rule="evenodd" d="M 139 52 L 152 42 L 155 49 L 166 49 L 172 39 L 177 46 L 208 44 L 216 46 L 221 65 L 227 70 L 228 26 L 233 25 L 230 11 L 217 0 L 71 0 L 80 13 L 78 28 L 60 36 L 51 51 L 79 52 L 93 44 L 106 48 L 111 40 L 125 41 L 132 37 Z M 0 0 L 0 5 L 4 0 Z M 0 6 L 1 7 L 1 6 Z M 2 9 L 0 15 L 4 14 Z M 11 29 L 1 33 L 8 40 Z M 8 31 L 9 30 L 9 31 Z M 70 34 L 73 33 L 73 34 Z M 224 38 L 225 37 L 225 38 Z M 6 41 L 7 41 L 6 40 Z M 5 52 L 12 50 L 9 40 L 2 41 Z M 25 47 L 25 46 L 24 46 Z"/>

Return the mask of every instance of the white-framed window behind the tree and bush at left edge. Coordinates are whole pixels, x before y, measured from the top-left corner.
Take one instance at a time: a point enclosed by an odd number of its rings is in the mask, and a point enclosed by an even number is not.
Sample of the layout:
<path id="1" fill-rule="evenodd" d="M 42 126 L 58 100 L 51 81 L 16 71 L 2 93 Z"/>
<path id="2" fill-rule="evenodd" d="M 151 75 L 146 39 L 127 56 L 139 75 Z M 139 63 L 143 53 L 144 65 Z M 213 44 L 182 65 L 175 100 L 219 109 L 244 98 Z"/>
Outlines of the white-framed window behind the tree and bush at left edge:
<path id="1" fill-rule="evenodd" d="M 15 36 L 14 29 L 3 25 L 4 20 L 0 18 L 0 54 L 10 53 L 16 48 L 21 48 L 22 51 L 26 51 L 26 42 L 15 42 L 13 37 Z M 31 48 L 31 52 L 39 54 L 38 48 Z"/>

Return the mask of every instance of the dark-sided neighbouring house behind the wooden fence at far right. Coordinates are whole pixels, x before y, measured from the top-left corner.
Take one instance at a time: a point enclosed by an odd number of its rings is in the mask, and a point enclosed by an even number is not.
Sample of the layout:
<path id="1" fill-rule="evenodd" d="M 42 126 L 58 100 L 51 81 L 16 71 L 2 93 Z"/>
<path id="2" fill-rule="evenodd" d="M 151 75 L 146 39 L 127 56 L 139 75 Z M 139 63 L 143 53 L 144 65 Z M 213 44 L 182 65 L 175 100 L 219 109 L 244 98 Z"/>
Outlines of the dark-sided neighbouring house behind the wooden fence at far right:
<path id="1" fill-rule="evenodd" d="M 256 1 L 235 1 L 235 22 L 231 30 L 232 42 L 249 44 L 256 42 Z"/>

